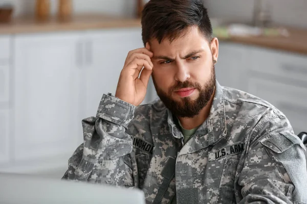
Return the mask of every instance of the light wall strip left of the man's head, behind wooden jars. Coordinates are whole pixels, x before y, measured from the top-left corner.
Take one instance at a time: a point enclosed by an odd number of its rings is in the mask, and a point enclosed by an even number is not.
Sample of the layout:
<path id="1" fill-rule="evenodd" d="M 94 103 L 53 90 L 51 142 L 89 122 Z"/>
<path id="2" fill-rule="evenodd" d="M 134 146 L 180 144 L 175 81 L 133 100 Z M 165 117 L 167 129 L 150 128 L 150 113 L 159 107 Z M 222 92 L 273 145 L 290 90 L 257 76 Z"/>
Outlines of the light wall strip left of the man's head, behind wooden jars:
<path id="1" fill-rule="evenodd" d="M 57 0 L 51 1 L 51 12 L 56 13 Z M 0 0 L 14 5 L 14 16 L 32 15 L 35 0 Z M 120 16 L 134 16 L 136 0 L 73 0 L 75 13 L 104 13 Z"/>

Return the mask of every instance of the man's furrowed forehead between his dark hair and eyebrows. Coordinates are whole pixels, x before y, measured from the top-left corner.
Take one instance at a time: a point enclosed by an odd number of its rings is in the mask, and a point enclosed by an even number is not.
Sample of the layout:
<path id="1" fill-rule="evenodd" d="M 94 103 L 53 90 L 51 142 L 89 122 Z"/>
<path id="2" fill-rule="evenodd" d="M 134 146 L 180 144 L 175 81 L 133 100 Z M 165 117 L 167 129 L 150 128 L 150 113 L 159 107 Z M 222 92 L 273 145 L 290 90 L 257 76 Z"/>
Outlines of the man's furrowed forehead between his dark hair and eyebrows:
<path id="1" fill-rule="evenodd" d="M 157 39 L 152 39 L 150 40 L 150 49 L 155 56 L 184 55 L 200 49 L 210 52 L 209 42 L 198 27 L 189 28 L 180 37 L 171 42 L 169 38 L 164 38 L 161 43 Z"/>

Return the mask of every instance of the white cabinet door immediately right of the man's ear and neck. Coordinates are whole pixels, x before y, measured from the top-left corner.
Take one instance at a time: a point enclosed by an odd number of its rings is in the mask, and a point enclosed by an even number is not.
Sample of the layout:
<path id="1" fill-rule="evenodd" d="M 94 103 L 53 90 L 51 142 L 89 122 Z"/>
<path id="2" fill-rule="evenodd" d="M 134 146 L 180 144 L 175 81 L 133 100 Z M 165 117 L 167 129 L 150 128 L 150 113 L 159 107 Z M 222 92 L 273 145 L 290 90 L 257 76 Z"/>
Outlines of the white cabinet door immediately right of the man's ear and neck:
<path id="1" fill-rule="evenodd" d="M 247 91 L 246 52 L 246 46 L 220 42 L 215 73 L 217 81 L 222 86 Z"/>

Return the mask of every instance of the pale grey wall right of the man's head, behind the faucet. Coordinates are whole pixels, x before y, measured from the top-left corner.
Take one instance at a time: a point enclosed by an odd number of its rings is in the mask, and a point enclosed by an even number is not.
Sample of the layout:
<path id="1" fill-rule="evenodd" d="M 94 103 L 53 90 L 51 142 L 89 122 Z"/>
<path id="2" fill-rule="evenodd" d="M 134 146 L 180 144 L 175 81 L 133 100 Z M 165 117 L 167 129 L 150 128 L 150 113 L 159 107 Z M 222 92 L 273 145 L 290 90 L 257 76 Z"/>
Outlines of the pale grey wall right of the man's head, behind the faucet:
<path id="1" fill-rule="evenodd" d="M 274 23 L 307 29 L 306 0 L 266 0 L 272 3 Z M 251 0 L 204 0 L 209 16 L 227 18 L 239 22 L 252 22 L 254 1 Z"/>

